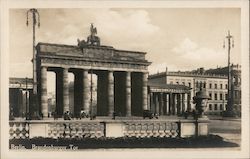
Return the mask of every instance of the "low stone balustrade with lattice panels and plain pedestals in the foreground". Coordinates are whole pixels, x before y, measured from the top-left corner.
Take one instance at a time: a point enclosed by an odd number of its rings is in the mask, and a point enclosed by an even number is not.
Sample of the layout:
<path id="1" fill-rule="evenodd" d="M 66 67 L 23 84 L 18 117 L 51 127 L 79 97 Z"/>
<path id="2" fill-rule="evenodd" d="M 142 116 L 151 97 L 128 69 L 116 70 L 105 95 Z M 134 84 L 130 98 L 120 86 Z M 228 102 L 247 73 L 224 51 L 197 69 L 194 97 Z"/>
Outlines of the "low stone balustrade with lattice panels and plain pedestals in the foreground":
<path id="1" fill-rule="evenodd" d="M 207 121 L 10 121 L 10 139 L 100 138 L 100 137 L 189 137 L 208 135 Z"/>

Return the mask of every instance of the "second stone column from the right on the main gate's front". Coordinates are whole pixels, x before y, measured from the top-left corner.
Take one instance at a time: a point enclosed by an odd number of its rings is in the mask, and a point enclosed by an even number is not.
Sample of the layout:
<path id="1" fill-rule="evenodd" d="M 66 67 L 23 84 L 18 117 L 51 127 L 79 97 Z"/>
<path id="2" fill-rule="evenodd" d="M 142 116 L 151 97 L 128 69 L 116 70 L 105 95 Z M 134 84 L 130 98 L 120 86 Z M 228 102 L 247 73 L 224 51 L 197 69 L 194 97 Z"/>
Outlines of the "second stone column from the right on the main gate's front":
<path id="1" fill-rule="evenodd" d="M 126 72 L 126 116 L 131 116 L 131 72 Z"/>

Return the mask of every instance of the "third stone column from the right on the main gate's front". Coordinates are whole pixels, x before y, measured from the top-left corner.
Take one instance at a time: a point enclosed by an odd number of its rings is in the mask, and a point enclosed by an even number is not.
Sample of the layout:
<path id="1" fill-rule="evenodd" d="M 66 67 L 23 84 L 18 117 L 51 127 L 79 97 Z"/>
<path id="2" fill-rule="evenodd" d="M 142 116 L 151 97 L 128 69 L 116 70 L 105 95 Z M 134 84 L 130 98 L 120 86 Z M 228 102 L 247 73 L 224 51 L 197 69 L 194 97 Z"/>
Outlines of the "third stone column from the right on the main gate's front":
<path id="1" fill-rule="evenodd" d="M 114 74 L 108 72 L 108 115 L 113 116 L 114 113 Z"/>

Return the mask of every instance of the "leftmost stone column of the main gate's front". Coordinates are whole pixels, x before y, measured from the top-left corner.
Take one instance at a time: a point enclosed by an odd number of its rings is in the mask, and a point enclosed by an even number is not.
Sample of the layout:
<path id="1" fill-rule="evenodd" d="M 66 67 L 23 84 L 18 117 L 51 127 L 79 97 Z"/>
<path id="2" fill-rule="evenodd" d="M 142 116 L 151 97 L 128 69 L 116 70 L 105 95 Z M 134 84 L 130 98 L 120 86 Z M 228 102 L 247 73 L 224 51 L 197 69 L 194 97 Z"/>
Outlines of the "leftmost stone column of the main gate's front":
<path id="1" fill-rule="evenodd" d="M 47 97 L 47 67 L 41 68 L 41 112 L 44 118 L 48 117 L 48 97 Z"/>

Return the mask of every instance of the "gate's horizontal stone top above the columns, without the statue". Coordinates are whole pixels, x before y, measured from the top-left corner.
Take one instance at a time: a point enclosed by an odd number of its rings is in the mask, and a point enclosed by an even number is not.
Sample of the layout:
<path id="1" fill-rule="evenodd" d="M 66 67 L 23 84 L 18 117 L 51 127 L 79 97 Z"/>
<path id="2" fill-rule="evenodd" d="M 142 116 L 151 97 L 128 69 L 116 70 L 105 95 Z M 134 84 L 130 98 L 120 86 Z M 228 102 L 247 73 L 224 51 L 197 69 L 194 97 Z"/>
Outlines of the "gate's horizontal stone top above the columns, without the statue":
<path id="1" fill-rule="evenodd" d="M 145 52 L 117 50 L 110 46 L 87 45 L 84 48 L 72 45 L 38 43 L 38 67 L 68 67 L 100 70 L 130 70 L 147 72 L 151 63 Z"/>

